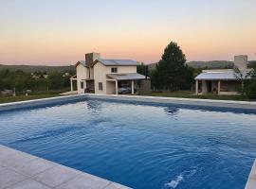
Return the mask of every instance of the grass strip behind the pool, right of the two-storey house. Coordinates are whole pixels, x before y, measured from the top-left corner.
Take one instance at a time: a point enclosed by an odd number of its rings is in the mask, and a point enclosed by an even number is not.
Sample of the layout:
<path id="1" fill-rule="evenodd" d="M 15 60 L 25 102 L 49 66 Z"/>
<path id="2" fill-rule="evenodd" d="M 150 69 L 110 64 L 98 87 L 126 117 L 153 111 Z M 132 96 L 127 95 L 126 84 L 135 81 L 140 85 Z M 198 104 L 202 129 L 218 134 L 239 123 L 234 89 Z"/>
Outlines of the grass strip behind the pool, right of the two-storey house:
<path id="1" fill-rule="evenodd" d="M 173 93 L 151 93 L 145 94 L 150 96 L 162 96 L 162 97 L 182 97 L 182 98 L 200 98 L 200 99 L 216 99 L 216 100 L 243 100 L 249 101 L 246 96 L 244 95 L 216 95 L 216 94 L 202 94 L 202 95 L 195 95 L 189 91 L 179 91 Z"/>

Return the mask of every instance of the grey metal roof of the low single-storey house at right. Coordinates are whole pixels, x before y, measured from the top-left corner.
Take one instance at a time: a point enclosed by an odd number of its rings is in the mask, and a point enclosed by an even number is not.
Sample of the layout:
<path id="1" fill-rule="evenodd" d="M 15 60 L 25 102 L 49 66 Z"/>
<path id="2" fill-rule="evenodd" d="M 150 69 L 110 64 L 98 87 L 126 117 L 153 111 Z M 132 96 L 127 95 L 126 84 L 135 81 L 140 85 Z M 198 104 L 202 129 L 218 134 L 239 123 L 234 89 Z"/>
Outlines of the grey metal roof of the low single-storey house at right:
<path id="1" fill-rule="evenodd" d="M 248 72 L 243 72 L 242 77 L 243 78 L 249 78 L 247 77 Z M 237 80 L 241 76 L 238 73 L 235 73 L 234 71 L 209 71 L 209 72 L 203 72 L 199 74 L 197 77 L 195 77 L 195 80 Z"/>

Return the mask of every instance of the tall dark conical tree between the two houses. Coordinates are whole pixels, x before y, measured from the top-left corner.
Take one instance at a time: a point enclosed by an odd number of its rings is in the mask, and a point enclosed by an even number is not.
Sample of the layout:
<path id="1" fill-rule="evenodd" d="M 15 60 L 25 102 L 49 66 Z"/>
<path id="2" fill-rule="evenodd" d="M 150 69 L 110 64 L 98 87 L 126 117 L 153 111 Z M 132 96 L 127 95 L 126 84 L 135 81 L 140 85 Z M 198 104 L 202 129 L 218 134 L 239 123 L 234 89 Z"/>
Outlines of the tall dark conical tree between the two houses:
<path id="1" fill-rule="evenodd" d="M 154 84 L 156 88 L 177 91 L 192 84 L 192 70 L 185 65 L 186 56 L 177 43 L 165 48 L 162 59 L 156 65 Z"/>

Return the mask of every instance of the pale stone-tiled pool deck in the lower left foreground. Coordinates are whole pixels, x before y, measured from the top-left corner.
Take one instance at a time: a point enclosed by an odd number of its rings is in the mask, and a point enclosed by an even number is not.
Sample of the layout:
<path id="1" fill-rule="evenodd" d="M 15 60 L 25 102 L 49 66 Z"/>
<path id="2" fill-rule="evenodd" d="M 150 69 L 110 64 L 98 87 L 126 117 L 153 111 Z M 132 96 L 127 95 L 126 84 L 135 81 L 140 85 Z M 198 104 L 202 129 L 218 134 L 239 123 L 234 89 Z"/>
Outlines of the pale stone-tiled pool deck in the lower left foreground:
<path id="1" fill-rule="evenodd" d="M 0 189 L 128 189 L 119 183 L 0 145 Z"/>

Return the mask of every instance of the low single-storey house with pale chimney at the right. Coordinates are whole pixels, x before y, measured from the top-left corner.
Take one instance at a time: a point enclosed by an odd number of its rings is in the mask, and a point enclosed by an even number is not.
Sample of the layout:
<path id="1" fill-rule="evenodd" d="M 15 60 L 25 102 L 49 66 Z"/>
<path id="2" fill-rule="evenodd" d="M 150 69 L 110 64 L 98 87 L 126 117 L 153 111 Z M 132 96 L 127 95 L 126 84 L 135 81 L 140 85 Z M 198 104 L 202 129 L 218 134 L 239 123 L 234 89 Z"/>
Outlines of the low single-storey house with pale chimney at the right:
<path id="1" fill-rule="evenodd" d="M 203 70 L 195 77 L 195 94 L 239 94 L 243 80 L 249 79 L 247 55 L 234 57 L 234 69 Z"/>

